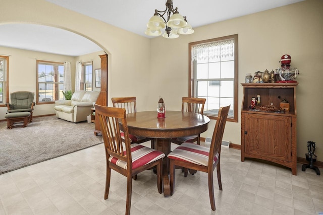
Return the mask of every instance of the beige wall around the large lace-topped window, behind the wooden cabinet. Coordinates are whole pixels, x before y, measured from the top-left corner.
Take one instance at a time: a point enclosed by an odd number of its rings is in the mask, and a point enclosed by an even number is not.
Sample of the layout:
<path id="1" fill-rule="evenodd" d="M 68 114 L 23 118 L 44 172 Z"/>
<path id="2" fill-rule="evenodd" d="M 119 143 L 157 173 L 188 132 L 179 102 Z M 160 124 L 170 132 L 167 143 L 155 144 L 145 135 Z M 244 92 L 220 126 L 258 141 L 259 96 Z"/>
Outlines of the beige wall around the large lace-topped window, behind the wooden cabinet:
<path id="1" fill-rule="evenodd" d="M 323 100 L 321 84 L 323 67 L 323 1 L 307 0 L 224 22 L 195 28 L 192 35 L 181 35 L 176 40 L 151 40 L 150 87 L 151 101 L 164 97 L 168 109 L 178 110 L 182 96 L 188 95 L 188 43 L 238 34 L 238 83 L 244 83 L 247 73 L 272 70 L 280 66 L 283 54 L 290 54 L 292 66 L 298 67 L 297 81 L 297 156 L 305 157 L 308 140 L 316 142 L 316 155 L 323 161 Z M 160 60 L 163 59 L 163 60 Z M 223 139 L 241 144 L 242 86 L 238 86 L 238 123 L 227 122 Z M 203 137 L 211 137 L 212 120 Z"/>

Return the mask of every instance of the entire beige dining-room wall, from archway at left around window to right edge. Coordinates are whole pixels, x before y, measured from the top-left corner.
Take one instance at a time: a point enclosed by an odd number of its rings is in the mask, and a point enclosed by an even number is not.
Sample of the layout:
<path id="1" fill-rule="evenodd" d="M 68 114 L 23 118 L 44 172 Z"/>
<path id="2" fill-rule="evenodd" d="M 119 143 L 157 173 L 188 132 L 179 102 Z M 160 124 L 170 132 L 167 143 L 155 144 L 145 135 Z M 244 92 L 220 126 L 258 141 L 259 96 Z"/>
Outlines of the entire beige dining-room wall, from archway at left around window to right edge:
<path id="1" fill-rule="evenodd" d="M 39 10 L 41 9 L 41 10 Z M 53 11 L 60 16 L 48 16 Z M 159 96 L 169 110 L 179 110 L 181 97 L 188 95 L 188 43 L 239 35 L 239 77 L 257 70 L 279 66 L 283 54 L 292 56 L 292 66 L 300 69 L 297 87 L 298 157 L 305 157 L 306 142 L 317 142 L 316 155 L 323 161 L 323 101 L 320 81 L 323 66 L 323 2 L 301 3 L 195 28 L 192 35 L 175 40 L 147 39 L 82 16 L 43 0 L 6 1 L 0 8 L 0 24 L 29 22 L 67 29 L 80 34 L 109 54 L 109 98 L 137 96 L 137 108 L 152 110 Z M 148 89 L 148 90 L 147 90 Z M 110 101 L 110 99 L 108 99 Z M 238 112 L 242 87 L 238 89 Z M 239 122 L 228 122 L 224 139 L 241 144 Z M 211 136 L 212 120 L 203 137 Z"/>

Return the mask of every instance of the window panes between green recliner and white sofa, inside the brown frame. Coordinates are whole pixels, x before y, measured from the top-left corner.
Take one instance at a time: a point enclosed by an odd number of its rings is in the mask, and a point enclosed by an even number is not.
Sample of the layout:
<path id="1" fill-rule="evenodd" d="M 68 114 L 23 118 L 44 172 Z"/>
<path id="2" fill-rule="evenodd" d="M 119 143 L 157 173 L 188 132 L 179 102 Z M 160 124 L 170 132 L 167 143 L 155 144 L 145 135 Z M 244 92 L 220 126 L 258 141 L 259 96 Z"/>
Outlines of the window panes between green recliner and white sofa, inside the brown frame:
<path id="1" fill-rule="evenodd" d="M 37 60 L 37 104 L 54 103 L 64 98 L 64 65 Z"/>

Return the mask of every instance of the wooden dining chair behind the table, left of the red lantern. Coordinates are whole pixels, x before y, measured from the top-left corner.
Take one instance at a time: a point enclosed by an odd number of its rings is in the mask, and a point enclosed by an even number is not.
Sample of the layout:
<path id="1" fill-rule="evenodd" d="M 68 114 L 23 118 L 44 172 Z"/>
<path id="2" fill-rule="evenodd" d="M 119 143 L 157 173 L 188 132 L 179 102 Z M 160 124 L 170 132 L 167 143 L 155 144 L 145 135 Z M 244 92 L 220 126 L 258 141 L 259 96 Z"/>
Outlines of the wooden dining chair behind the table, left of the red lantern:
<path id="1" fill-rule="evenodd" d="M 112 98 L 111 100 L 114 107 L 125 108 L 127 113 L 137 112 L 136 97 L 119 97 L 119 98 Z M 131 143 L 134 143 L 134 144 L 142 144 L 143 142 L 150 140 L 151 149 L 154 149 L 154 145 L 155 145 L 154 138 L 136 136 L 132 134 L 129 134 L 129 138 L 131 140 Z"/>

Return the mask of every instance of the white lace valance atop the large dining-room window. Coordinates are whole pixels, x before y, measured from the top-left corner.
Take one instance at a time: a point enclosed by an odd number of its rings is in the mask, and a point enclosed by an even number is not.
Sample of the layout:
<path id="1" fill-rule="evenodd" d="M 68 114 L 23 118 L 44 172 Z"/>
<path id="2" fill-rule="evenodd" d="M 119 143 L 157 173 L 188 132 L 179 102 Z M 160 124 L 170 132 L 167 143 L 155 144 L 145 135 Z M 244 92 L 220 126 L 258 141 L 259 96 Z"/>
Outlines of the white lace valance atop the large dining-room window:
<path id="1" fill-rule="evenodd" d="M 208 43 L 192 47 L 193 60 L 214 60 L 234 55 L 234 40 Z"/>

